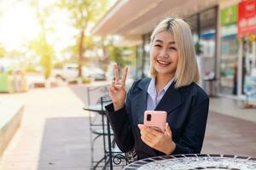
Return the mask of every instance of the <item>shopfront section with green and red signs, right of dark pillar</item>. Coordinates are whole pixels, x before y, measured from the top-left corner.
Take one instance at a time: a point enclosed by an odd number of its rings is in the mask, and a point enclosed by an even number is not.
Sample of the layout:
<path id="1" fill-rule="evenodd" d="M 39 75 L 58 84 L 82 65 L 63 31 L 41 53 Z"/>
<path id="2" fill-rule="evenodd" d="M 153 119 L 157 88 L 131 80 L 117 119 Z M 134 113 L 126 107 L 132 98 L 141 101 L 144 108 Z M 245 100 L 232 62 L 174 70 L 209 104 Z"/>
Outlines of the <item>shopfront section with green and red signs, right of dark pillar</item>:
<path id="1" fill-rule="evenodd" d="M 220 8 L 219 94 L 256 101 L 256 0 Z"/>

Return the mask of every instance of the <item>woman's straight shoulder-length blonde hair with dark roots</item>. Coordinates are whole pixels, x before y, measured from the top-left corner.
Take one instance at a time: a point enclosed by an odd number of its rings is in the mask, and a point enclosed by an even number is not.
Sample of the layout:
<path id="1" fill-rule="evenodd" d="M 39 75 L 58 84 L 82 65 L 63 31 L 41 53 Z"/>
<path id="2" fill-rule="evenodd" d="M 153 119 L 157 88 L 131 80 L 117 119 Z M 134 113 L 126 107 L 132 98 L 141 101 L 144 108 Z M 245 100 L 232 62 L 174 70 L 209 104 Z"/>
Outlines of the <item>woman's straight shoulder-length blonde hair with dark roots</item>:
<path id="1" fill-rule="evenodd" d="M 195 59 L 195 48 L 192 39 L 192 33 L 189 25 L 182 19 L 167 18 L 162 20 L 158 26 L 154 28 L 151 35 L 151 45 L 154 37 L 161 31 L 170 32 L 177 44 L 177 70 L 175 72 L 175 88 L 189 85 L 191 82 L 198 82 L 199 72 Z M 157 71 L 150 60 L 150 76 L 156 77 Z"/>

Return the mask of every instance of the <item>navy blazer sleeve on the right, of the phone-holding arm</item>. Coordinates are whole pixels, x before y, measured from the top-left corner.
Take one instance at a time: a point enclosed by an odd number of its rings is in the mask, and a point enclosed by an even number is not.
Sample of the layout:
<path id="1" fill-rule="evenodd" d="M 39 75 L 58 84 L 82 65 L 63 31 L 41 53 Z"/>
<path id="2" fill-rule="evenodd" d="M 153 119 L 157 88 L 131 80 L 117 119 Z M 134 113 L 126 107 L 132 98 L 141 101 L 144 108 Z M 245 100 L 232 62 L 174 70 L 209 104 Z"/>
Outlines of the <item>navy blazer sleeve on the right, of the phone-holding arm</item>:
<path id="1" fill-rule="evenodd" d="M 172 155 L 196 154 L 201 152 L 207 126 L 209 98 L 205 94 L 198 100 L 195 104 L 192 104 L 188 122 L 183 129 L 181 139 L 177 142 Z"/>

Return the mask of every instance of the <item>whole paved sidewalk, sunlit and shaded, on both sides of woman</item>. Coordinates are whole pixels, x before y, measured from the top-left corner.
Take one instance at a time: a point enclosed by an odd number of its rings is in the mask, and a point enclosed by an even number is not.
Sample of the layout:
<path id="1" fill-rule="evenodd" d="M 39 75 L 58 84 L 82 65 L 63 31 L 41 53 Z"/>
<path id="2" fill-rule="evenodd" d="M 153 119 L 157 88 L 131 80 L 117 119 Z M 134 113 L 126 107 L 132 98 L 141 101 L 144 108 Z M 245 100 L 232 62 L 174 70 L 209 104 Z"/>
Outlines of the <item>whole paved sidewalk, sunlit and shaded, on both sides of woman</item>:
<path id="1" fill-rule="evenodd" d="M 0 170 L 90 169 L 89 120 L 82 109 L 85 86 L 0 94 L 1 99 L 23 101 L 26 107 L 20 130 L 0 159 Z M 202 153 L 256 156 L 255 143 L 255 122 L 210 112 Z M 101 156 L 102 145 L 97 147 L 96 156 Z"/>

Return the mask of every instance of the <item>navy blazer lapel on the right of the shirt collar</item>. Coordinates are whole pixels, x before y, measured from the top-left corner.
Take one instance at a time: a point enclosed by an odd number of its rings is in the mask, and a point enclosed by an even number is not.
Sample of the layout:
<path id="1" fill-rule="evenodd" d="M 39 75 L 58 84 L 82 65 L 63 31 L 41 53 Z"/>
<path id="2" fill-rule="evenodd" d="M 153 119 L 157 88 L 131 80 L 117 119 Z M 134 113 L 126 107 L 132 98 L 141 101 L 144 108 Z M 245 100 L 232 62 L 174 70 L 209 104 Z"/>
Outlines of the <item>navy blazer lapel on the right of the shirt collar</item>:
<path id="1" fill-rule="evenodd" d="M 155 107 L 155 111 L 166 111 L 170 113 L 175 110 L 177 106 L 182 105 L 182 97 L 177 88 L 174 88 L 175 82 L 167 89 L 166 94 Z"/>

